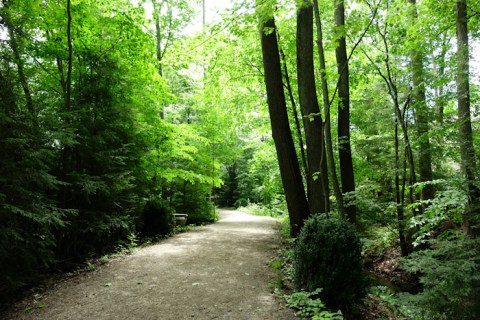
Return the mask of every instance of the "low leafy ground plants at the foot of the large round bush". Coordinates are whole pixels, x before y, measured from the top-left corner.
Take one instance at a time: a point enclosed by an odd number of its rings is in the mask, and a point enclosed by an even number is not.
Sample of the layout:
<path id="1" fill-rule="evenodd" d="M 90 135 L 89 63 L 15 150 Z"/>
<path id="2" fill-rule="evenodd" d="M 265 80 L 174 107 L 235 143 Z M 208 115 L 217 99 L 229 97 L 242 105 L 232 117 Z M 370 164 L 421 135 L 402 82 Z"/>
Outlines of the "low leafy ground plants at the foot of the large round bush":
<path id="1" fill-rule="evenodd" d="M 302 318 L 342 320 L 341 311 L 332 313 L 327 310 L 325 304 L 318 298 L 321 292 L 322 289 L 316 289 L 312 292 L 299 291 L 291 295 L 285 295 L 284 299 L 287 306 L 297 310 L 296 315 Z"/>

